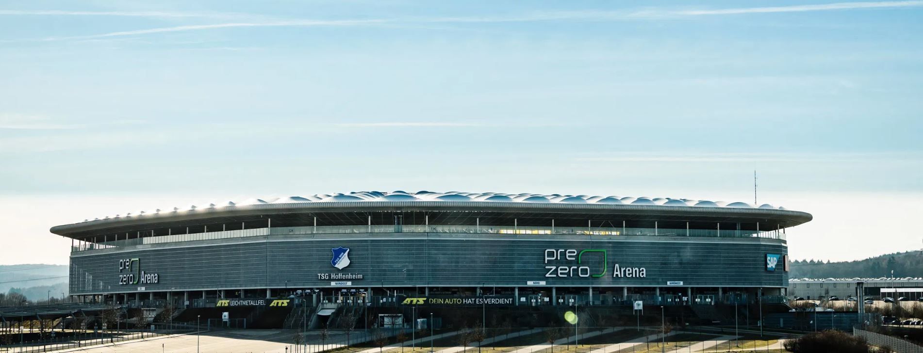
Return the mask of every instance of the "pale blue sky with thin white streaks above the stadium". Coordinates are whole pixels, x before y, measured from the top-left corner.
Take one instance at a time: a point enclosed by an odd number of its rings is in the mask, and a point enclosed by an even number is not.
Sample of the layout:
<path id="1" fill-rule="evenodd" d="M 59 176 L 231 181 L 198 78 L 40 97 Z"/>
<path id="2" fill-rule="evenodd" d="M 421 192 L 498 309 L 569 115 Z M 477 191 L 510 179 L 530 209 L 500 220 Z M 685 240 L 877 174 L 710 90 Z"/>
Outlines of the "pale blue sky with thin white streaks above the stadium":
<path id="1" fill-rule="evenodd" d="M 920 33 L 923 1 L 0 3 L 0 209 L 32 250 L 0 263 L 170 200 L 751 202 L 754 169 L 816 216 L 797 258 L 916 249 Z"/>

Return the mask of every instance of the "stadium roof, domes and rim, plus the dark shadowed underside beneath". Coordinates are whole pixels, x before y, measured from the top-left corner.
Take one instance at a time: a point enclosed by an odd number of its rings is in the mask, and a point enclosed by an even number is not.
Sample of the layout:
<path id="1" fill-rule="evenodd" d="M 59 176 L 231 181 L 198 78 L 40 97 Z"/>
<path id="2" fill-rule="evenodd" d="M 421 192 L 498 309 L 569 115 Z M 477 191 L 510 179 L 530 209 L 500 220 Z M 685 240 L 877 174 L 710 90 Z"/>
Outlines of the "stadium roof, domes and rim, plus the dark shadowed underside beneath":
<path id="1" fill-rule="evenodd" d="M 559 228 L 592 229 L 595 223 L 596 227 L 718 229 L 720 233 L 721 229 L 785 229 L 810 219 L 811 215 L 805 212 L 743 202 L 585 194 L 373 191 L 249 199 L 126 212 L 56 226 L 51 231 L 70 238 L 88 239 L 102 234 L 146 231 L 159 236 L 218 229 L 313 226 L 317 230 L 318 225 L 554 227 L 556 223 L 551 220 L 556 220 Z"/>

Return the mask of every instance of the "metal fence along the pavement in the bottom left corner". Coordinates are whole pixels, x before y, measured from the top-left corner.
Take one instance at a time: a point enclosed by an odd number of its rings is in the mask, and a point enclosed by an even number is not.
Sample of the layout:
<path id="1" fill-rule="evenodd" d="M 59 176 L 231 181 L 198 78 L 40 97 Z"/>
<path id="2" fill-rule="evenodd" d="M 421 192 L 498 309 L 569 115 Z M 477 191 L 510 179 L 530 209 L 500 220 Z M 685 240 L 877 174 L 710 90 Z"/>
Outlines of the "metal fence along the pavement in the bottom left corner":
<path id="1" fill-rule="evenodd" d="M 184 331 L 185 332 L 185 331 Z M 95 332 L 81 335 L 67 335 L 56 338 L 42 339 L 41 341 L 16 342 L 11 345 L 0 346 L 0 352 L 30 353 L 50 352 L 60 349 L 90 347 L 107 343 L 118 343 L 133 339 L 144 339 L 166 335 L 169 332 Z"/>

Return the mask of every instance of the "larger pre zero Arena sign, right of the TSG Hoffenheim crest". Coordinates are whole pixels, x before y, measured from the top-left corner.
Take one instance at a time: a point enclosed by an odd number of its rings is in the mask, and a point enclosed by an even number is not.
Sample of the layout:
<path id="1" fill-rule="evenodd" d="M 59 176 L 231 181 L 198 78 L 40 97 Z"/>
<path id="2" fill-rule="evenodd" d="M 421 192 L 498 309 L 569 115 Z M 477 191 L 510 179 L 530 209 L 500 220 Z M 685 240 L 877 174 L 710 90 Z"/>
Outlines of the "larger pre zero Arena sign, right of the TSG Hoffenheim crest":
<path id="1" fill-rule="evenodd" d="M 598 265 L 600 259 L 602 265 Z M 545 249 L 545 277 L 605 277 L 607 270 L 605 249 Z M 647 277 L 647 269 L 615 264 L 612 277 Z"/>

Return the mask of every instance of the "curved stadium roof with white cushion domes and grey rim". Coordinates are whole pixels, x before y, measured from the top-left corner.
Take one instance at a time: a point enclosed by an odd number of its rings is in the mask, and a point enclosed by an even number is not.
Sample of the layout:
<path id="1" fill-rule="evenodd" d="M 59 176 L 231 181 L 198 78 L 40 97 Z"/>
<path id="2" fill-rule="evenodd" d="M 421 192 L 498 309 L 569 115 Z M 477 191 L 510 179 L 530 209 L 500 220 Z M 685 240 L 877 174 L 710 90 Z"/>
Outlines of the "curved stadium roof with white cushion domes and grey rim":
<path id="1" fill-rule="evenodd" d="M 169 222 L 189 219 L 273 215 L 283 213 L 345 211 L 497 211 L 569 214 L 624 214 L 667 217 L 767 218 L 784 220 L 787 226 L 807 222 L 808 213 L 770 204 L 692 200 L 665 197 L 592 196 L 586 194 L 502 194 L 502 193 L 435 193 L 419 191 L 354 192 L 349 194 L 312 194 L 279 198 L 250 198 L 243 201 L 210 202 L 166 209 L 126 212 L 103 218 L 56 226 L 55 234 L 66 235 L 116 226 Z"/>

